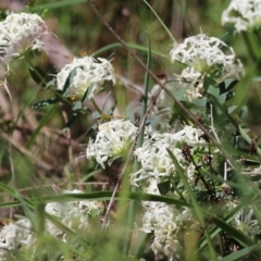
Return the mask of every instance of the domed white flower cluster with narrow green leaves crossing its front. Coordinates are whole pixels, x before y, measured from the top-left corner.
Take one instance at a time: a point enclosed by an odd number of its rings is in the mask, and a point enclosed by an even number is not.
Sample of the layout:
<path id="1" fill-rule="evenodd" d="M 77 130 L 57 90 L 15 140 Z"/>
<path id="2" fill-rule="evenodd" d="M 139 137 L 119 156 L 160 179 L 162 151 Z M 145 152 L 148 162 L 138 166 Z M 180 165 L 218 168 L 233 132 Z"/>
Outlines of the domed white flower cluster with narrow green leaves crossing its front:
<path id="1" fill-rule="evenodd" d="M 94 98 L 104 80 L 112 80 L 115 84 L 114 71 L 109 60 L 102 58 L 96 60 L 92 57 L 74 58 L 72 63 L 66 64 L 57 75 L 59 90 L 63 90 L 73 70 L 76 70 L 75 76 L 67 88 L 67 95 L 72 100 L 80 100 L 91 84 L 94 84 L 94 87 L 89 99 Z"/>

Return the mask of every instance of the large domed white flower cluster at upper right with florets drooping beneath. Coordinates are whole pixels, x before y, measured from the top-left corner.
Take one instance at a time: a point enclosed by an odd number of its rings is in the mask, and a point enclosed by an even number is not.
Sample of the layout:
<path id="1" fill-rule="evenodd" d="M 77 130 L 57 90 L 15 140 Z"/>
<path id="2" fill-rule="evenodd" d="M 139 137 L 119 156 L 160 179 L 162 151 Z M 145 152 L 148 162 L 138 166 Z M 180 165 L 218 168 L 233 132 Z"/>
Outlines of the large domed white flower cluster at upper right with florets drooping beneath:
<path id="1" fill-rule="evenodd" d="M 223 52 L 224 48 L 229 54 Z M 243 65 L 235 60 L 233 48 L 204 34 L 188 37 L 183 44 L 175 42 L 170 55 L 172 62 L 178 61 L 188 66 L 182 72 L 181 82 L 190 83 L 187 90 L 189 100 L 202 97 L 204 76 L 221 82 L 228 76 L 239 78 L 244 75 Z"/>

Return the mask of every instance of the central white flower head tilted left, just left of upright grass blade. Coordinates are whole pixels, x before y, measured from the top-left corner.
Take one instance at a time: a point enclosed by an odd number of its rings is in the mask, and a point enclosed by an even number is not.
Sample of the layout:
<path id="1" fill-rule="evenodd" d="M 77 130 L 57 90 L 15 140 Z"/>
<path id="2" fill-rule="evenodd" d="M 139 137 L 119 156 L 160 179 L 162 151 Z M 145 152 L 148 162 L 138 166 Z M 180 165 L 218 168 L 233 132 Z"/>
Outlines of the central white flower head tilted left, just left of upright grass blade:
<path id="1" fill-rule="evenodd" d="M 86 156 L 95 158 L 104 169 L 104 162 L 110 158 L 117 158 L 128 151 L 134 141 L 137 127 L 129 121 L 114 120 L 99 125 L 95 140 L 89 140 Z"/>

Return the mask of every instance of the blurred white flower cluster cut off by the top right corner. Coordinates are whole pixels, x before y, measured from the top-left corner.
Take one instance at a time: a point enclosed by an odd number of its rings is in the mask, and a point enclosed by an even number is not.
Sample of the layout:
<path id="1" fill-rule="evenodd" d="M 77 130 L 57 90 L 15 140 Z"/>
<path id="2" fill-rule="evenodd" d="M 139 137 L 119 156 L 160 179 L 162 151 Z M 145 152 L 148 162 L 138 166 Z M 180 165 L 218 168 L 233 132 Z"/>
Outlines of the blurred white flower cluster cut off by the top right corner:
<path id="1" fill-rule="evenodd" d="M 235 32 L 259 29 L 261 26 L 260 0 L 232 0 L 222 14 L 222 25 L 235 24 Z"/>

